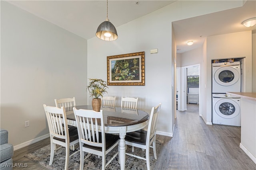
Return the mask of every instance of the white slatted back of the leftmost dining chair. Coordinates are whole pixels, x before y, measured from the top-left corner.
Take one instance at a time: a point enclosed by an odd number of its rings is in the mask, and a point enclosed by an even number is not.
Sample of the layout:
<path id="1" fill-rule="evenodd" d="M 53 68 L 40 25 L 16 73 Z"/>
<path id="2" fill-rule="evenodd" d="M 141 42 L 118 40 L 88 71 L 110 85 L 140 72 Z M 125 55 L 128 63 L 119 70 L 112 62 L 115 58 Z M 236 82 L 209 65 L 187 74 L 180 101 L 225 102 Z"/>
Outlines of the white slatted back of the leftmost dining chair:
<path id="1" fill-rule="evenodd" d="M 64 107 L 52 107 L 44 104 L 50 135 L 69 140 L 68 124 Z M 68 141 L 69 142 L 69 141 Z"/>

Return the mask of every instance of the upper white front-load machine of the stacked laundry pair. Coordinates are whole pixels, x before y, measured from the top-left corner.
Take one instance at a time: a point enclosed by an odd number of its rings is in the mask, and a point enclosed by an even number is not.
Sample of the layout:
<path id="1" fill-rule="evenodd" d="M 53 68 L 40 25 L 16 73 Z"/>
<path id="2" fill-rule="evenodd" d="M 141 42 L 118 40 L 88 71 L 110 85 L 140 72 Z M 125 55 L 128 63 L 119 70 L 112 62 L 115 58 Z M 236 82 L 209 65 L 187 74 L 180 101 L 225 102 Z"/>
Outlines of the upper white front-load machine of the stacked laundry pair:
<path id="1" fill-rule="evenodd" d="M 240 61 L 212 63 L 212 93 L 241 92 Z"/>

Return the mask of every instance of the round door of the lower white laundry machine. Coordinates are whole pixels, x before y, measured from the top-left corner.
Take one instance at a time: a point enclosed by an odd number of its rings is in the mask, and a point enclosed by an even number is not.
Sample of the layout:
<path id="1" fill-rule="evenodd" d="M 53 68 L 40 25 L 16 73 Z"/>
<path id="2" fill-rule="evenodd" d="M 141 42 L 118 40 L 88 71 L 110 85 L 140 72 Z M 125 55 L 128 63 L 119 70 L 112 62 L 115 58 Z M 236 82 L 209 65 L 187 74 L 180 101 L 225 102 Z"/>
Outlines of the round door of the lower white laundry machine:
<path id="1" fill-rule="evenodd" d="M 225 119 L 232 119 L 239 115 L 240 106 L 232 99 L 221 99 L 214 106 L 215 112 Z"/>

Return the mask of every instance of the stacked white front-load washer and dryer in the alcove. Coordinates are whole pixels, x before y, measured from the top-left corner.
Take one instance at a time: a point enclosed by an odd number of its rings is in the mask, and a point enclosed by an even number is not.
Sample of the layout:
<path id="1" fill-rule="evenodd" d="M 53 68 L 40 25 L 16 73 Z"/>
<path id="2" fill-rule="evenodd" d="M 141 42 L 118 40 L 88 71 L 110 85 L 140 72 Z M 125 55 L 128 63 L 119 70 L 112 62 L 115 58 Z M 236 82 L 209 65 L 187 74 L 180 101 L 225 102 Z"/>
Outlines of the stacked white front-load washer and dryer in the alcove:
<path id="1" fill-rule="evenodd" d="M 241 126 L 240 98 L 226 92 L 241 92 L 240 61 L 212 63 L 212 123 Z"/>

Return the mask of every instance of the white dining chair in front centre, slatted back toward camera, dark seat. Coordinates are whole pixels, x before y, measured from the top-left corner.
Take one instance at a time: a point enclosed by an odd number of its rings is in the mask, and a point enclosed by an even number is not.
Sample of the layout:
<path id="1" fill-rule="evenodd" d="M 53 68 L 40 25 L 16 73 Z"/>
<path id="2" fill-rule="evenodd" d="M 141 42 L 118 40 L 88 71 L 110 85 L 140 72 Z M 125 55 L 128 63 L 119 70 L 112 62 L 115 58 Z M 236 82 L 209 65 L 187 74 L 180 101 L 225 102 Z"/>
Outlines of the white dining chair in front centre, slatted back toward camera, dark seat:
<path id="1" fill-rule="evenodd" d="M 80 145 L 80 170 L 83 169 L 84 159 L 90 154 L 102 156 L 102 169 L 118 155 L 118 151 L 106 163 L 106 154 L 114 149 L 119 143 L 119 136 L 105 133 L 104 119 L 102 110 L 99 112 L 94 110 L 73 108 L 76 124 L 78 128 L 79 145 Z M 88 152 L 84 158 L 84 152 Z"/>

